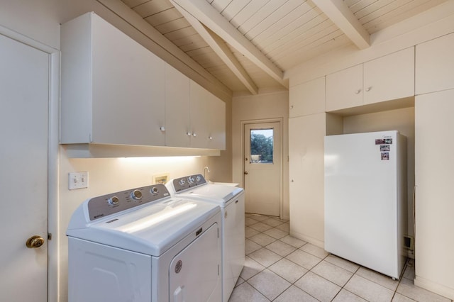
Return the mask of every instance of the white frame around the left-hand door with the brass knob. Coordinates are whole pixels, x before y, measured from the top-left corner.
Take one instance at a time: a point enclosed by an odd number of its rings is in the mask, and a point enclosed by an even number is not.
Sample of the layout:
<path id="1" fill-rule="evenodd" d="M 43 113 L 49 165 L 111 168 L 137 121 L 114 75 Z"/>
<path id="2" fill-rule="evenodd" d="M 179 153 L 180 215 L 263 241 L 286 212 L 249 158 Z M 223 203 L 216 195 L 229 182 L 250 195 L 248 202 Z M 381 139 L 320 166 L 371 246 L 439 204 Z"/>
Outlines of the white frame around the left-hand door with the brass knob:
<path id="1" fill-rule="evenodd" d="M 57 302 L 59 285 L 59 129 L 60 129 L 60 50 L 28 38 L 21 33 L 0 25 L 0 34 L 33 47 L 49 55 L 49 104 L 48 104 L 48 301 Z"/>

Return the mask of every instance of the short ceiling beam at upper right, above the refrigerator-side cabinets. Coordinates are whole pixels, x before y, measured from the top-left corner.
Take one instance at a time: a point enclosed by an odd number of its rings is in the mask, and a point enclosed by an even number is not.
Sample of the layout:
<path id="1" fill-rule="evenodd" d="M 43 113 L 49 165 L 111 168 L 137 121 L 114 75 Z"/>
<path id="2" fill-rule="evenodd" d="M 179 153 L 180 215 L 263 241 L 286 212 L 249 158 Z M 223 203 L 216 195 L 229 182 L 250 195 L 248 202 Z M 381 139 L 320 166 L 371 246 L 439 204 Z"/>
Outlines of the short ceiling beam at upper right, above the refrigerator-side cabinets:
<path id="1" fill-rule="evenodd" d="M 370 47 L 370 35 L 343 0 L 312 0 L 353 43 L 363 50 Z"/>

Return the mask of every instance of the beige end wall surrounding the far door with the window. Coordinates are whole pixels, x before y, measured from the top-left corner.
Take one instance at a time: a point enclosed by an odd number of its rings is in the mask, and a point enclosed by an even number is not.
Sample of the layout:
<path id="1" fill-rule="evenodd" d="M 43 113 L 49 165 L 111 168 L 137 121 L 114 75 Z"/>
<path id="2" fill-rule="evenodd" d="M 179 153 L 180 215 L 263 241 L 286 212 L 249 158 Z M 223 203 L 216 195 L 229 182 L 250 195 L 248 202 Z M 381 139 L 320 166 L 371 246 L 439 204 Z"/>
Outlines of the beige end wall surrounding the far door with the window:
<path id="1" fill-rule="evenodd" d="M 288 162 L 289 93 L 277 91 L 255 96 L 236 96 L 232 100 L 232 174 L 233 182 L 244 187 L 243 130 L 241 123 L 282 119 L 282 218 L 289 218 L 289 162 Z M 268 184 L 265 186 L 270 187 Z"/>

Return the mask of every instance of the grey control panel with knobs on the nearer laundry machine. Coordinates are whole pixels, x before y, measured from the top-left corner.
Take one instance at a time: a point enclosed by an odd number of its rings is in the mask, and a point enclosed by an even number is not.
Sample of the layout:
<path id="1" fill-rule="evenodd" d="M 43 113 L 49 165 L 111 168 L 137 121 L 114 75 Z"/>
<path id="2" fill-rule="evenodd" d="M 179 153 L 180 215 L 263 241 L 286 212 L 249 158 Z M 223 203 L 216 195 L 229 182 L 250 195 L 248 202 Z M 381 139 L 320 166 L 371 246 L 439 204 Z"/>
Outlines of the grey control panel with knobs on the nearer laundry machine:
<path id="1" fill-rule="evenodd" d="M 153 184 L 112 194 L 97 196 L 88 201 L 90 220 L 103 218 L 145 203 L 170 197 L 164 184 Z"/>

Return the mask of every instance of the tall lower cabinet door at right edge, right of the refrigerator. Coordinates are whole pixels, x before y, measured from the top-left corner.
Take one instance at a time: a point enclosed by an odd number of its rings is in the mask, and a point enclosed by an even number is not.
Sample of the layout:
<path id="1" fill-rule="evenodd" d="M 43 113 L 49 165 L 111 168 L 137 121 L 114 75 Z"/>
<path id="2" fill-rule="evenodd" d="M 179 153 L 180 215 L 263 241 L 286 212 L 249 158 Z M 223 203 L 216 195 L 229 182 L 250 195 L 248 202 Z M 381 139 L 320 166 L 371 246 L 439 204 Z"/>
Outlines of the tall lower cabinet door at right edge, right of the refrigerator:
<path id="1" fill-rule="evenodd" d="M 454 267 L 453 100 L 453 89 L 415 98 L 416 280 L 446 289 L 454 288 L 446 269 Z"/>

